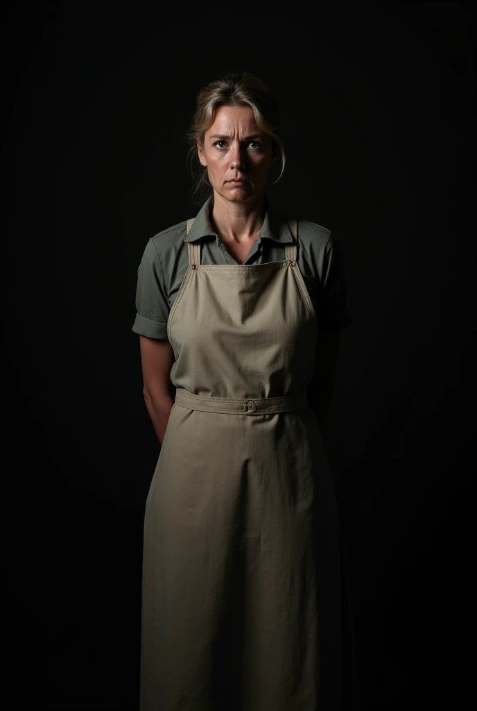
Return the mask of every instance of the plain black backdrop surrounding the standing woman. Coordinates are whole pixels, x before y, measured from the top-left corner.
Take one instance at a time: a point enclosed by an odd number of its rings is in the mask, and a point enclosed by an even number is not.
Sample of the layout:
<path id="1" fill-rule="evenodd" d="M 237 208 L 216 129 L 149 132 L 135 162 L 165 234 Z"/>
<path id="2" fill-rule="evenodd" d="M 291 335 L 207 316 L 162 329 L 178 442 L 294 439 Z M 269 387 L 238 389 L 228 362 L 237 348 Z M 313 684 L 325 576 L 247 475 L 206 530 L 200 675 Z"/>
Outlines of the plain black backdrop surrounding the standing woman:
<path id="1" fill-rule="evenodd" d="M 470 702 L 471 19 L 462 3 L 4 9 L 9 708 L 137 708 L 159 453 L 137 267 L 199 210 L 197 92 L 241 71 L 282 105 L 270 199 L 344 252 L 354 324 L 325 434 L 362 707 Z"/>

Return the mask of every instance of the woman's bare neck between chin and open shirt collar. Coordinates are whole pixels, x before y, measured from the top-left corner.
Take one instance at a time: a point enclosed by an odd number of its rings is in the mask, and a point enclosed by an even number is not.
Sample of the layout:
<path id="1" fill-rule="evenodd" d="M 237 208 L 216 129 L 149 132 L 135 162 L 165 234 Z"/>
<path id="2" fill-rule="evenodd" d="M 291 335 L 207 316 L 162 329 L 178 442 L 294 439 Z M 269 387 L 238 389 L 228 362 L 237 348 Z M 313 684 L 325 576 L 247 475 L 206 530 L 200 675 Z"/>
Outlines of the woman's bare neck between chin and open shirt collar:
<path id="1" fill-rule="evenodd" d="M 247 242 L 260 232 L 265 219 L 265 198 L 258 196 L 247 203 L 231 203 L 214 193 L 209 210 L 212 230 L 226 240 Z"/>

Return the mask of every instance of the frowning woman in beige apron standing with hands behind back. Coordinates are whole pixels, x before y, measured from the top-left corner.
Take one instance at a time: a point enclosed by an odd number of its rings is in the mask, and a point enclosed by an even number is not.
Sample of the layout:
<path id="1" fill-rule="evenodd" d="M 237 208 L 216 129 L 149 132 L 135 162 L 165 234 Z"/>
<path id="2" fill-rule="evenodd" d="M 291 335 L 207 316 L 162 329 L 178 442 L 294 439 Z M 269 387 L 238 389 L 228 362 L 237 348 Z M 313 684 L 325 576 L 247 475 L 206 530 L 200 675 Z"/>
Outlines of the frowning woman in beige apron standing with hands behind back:
<path id="1" fill-rule="evenodd" d="M 319 428 L 351 319 L 329 231 L 264 195 L 279 154 L 285 164 L 278 125 L 253 75 L 199 92 L 190 138 L 207 201 L 149 240 L 138 269 L 133 331 L 162 445 L 146 502 L 141 711 L 353 707 Z"/>

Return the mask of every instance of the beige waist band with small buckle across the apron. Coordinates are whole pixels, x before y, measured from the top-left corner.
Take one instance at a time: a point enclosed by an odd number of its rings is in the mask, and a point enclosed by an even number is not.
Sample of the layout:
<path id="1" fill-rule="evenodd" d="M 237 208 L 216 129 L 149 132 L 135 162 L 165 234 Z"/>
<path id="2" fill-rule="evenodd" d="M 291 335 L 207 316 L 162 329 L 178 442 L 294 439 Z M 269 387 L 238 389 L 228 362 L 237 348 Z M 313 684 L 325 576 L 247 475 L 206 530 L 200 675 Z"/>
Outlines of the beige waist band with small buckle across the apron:
<path id="1" fill-rule="evenodd" d="M 175 392 L 177 405 L 189 410 L 202 412 L 224 412 L 227 415 L 268 415 L 275 412 L 290 412 L 307 407 L 306 392 L 283 397 L 211 397 L 209 395 L 194 395 L 194 393 L 177 387 Z"/>

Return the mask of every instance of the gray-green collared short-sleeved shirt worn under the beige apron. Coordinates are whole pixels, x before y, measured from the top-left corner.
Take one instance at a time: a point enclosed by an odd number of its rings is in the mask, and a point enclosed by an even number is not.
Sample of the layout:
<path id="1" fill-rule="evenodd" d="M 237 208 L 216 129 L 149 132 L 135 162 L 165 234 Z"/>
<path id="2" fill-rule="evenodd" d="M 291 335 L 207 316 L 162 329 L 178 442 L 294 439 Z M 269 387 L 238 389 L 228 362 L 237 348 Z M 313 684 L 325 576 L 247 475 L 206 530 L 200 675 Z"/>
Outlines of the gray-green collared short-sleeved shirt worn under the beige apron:
<path id="1" fill-rule="evenodd" d="M 199 210 L 187 235 L 187 220 L 151 237 L 138 267 L 136 320 L 132 330 L 148 338 L 168 338 L 168 316 L 189 266 L 187 242 L 202 240 L 201 264 L 237 264 L 209 221 L 213 197 Z M 244 264 L 279 262 L 292 242 L 285 215 L 265 197 L 265 219 Z M 321 225 L 298 220 L 297 264 L 317 314 L 319 331 L 352 323 L 339 246 Z"/>

